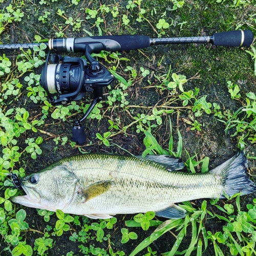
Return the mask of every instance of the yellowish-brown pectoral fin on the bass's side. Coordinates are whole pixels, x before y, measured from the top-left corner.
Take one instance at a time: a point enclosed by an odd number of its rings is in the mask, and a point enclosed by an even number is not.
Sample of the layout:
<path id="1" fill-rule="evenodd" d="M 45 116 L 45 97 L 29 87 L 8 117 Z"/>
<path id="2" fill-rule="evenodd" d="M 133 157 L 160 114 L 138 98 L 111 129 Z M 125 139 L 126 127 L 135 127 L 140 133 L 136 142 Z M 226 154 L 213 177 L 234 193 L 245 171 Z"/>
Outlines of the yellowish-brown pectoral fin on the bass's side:
<path id="1" fill-rule="evenodd" d="M 112 181 L 110 180 L 98 181 L 86 188 L 82 188 L 78 194 L 84 198 L 84 202 L 87 202 L 88 200 L 100 196 L 108 191 L 111 185 Z"/>

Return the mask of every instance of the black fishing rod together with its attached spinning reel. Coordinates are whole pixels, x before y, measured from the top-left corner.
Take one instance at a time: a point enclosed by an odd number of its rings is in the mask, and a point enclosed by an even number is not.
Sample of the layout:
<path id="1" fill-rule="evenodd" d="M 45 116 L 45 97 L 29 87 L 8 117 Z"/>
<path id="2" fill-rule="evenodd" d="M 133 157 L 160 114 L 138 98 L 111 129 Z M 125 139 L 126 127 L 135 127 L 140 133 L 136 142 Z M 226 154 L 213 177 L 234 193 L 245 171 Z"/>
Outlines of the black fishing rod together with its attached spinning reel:
<path id="1" fill-rule="evenodd" d="M 237 30 L 214 33 L 211 36 L 150 38 L 144 35 L 109 35 L 72 38 L 55 38 L 46 43 L 49 52 L 42 69 L 40 85 L 46 90 L 49 102 L 53 105 L 67 104 L 80 100 L 86 92 L 93 92 L 94 99 L 89 109 L 72 127 L 72 141 L 82 144 L 86 141 L 81 122 L 102 99 L 103 87 L 108 86 L 114 76 L 91 54 L 104 51 L 130 51 L 154 45 L 207 44 L 227 47 L 248 47 L 252 44 L 251 30 Z M 33 49 L 40 43 L 4 44 L 0 50 Z M 82 52 L 81 57 L 61 56 L 62 53 Z"/>

